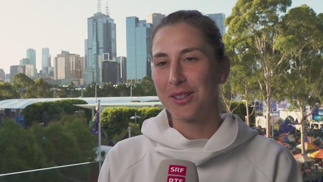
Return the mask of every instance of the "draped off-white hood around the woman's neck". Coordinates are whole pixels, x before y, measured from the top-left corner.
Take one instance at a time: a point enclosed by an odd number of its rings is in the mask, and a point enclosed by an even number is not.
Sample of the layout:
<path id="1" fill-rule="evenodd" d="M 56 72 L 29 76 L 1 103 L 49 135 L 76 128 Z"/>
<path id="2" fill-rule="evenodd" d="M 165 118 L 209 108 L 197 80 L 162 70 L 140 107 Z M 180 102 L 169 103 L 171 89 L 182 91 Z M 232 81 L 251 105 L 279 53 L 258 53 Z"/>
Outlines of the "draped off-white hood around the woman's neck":
<path id="1" fill-rule="evenodd" d="M 153 150 L 161 156 L 188 160 L 199 165 L 232 151 L 258 134 L 236 115 L 226 113 L 220 116 L 224 121 L 210 139 L 186 139 L 170 127 L 166 109 L 156 117 L 145 120 L 141 132 L 149 139 Z"/>

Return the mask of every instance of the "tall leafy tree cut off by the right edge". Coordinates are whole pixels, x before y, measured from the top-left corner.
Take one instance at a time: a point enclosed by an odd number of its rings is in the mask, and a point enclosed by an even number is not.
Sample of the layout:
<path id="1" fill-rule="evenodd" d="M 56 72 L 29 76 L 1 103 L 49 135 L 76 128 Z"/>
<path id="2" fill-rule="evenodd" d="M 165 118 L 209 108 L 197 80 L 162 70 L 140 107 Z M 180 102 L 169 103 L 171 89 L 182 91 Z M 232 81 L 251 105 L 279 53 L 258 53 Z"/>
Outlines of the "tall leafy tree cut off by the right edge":
<path id="1" fill-rule="evenodd" d="M 284 77 L 284 95 L 294 110 L 301 116 L 301 150 L 305 154 L 305 122 L 312 111 L 320 104 L 323 96 L 323 26 L 322 14 L 306 5 L 291 9 L 279 26 L 281 31 L 275 47 L 284 52 L 289 70 L 282 73 Z M 312 111 L 306 113 L 306 106 Z"/>

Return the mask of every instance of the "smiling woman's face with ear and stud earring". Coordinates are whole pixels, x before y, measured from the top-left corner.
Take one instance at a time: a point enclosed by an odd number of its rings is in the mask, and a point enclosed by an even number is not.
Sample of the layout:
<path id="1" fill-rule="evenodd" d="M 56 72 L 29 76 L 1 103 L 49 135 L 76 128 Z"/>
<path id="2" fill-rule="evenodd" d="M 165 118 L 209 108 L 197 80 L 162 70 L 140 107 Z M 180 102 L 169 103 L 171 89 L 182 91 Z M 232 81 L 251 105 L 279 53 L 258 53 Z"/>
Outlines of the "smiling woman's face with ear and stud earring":
<path id="1" fill-rule="evenodd" d="M 218 112 L 218 83 L 226 76 L 197 28 L 186 23 L 160 28 L 152 59 L 157 95 L 172 117 L 191 121 Z"/>

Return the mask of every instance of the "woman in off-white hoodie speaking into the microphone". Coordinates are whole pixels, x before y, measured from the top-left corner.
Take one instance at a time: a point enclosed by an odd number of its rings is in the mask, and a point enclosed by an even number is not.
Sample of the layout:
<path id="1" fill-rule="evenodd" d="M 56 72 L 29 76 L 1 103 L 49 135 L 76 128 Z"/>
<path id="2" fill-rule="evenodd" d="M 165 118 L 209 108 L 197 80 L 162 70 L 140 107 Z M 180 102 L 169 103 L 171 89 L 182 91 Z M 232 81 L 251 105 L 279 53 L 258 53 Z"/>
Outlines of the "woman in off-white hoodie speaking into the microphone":
<path id="1" fill-rule="evenodd" d="M 200 181 L 301 181 L 286 147 L 236 115 L 219 114 L 219 84 L 230 70 L 219 29 L 198 11 L 178 11 L 154 29 L 152 78 L 165 110 L 143 135 L 119 142 L 98 181 L 153 181 L 167 158 L 196 164 Z"/>

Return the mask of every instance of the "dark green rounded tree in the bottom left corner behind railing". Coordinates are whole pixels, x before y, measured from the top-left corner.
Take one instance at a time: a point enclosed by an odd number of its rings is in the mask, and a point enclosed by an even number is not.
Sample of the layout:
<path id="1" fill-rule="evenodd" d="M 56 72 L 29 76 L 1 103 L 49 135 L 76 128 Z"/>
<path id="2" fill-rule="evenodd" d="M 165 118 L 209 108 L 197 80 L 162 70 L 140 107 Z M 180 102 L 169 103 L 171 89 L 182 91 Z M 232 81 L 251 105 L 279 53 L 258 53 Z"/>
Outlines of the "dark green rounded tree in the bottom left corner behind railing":
<path id="1" fill-rule="evenodd" d="M 35 136 L 13 120 L 4 121 L 1 126 L 0 148 L 0 173 L 46 167 L 45 156 L 36 144 Z M 43 177 L 41 173 L 27 173 L 24 181 L 40 181 Z M 20 180 L 20 176 L 14 175 L 6 181 Z"/>

